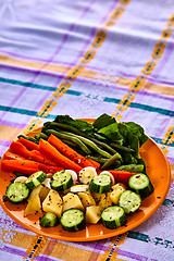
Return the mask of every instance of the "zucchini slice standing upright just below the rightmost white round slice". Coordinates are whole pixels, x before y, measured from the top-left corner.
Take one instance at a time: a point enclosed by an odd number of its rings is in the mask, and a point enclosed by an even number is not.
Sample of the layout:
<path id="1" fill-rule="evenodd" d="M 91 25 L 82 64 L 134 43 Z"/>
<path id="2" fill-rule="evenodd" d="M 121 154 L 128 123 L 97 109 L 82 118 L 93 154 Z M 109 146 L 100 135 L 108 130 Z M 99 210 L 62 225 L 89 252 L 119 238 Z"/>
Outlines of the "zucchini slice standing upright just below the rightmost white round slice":
<path id="1" fill-rule="evenodd" d="M 94 176 L 89 184 L 89 190 L 91 192 L 105 194 L 110 191 L 110 188 L 111 177 L 105 174 Z"/>

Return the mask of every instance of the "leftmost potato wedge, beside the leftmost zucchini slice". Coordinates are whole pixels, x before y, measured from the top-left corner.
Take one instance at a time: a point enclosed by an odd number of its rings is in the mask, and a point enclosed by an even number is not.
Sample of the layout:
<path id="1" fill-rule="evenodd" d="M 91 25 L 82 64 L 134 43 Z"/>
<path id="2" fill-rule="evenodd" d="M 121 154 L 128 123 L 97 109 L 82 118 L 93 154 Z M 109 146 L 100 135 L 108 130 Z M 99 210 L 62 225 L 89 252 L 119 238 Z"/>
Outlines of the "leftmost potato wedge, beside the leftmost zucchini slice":
<path id="1" fill-rule="evenodd" d="M 28 200 L 28 203 L 26 206 L 26 209 L 24 211 L 24 216 L 29 215 L 29 214 L 37 214 L 41 213 L 41 203 L 40 203 L 40 198 L 39 195 L 36 194 L 33 198 Z"/>

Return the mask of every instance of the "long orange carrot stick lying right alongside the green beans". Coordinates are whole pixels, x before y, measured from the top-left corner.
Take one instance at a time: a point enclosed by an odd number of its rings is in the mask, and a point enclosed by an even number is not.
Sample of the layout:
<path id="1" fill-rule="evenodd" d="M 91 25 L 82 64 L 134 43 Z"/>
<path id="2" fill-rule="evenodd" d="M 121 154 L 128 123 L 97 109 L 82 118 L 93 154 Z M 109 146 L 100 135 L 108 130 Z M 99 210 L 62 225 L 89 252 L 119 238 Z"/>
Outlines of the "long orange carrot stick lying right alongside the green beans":
<path id="1" fill-rule="evenodd" d="M 98 162 L 90 161 L 89 159 L 86 159 L 85 157 L 80 156 L 74 149 L 69 147 L 61 139 L 59 139 L 52 134 L 50 135 L 48 142 L 51 144 L 53 147 L 55 147 L 63 156 L 67 157 L 69 159 L 71 159 L 82 167 L 94 166 L 96 169 L 99 169 L 100 166 Z"/>

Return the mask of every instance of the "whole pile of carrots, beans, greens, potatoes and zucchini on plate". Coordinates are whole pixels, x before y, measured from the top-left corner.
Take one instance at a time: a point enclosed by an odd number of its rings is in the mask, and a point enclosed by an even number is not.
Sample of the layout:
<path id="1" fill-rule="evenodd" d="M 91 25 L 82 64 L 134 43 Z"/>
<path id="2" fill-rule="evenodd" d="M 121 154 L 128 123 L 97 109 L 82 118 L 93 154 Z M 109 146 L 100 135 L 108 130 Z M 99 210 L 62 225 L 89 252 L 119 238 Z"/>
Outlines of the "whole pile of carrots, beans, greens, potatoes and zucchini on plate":
<path id="1" fill-rule="evenodd" d="M 134 122 L 108 114 L 94 123 L 58 115 L 35 137 L 20 135 L 4 153 L 1 169 L 17 177 L 8 186 L 13 203 L 27 201 L 24 215 L 44 213 L 40 226 L 61 223 L 84 229 L 102 222 L 125 225 L 153 191 L 139 148 L 148 137 Z"/>

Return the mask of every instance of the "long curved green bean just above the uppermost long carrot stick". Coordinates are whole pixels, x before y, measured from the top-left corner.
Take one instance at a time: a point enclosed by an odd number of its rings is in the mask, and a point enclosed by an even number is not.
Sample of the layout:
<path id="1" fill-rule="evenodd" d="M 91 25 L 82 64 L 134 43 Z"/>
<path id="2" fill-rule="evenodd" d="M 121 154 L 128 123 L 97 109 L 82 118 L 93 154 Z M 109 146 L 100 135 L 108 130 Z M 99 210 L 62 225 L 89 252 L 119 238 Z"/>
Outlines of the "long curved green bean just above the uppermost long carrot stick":
<path id="1" fill-rule="evenodd" d="M 77 137 L 72 137 L 71 135 L 67 135 L 67 133 L 59 133 L 54 129 L 47 129 L 46 133 L 48 135 L 54 135 L 61 139 L 67 139 L 71 140 L 72 142 L 76 144 L 85 153 L 90 154 L 91 151 L 88 149 L 88 147 Z"/>

